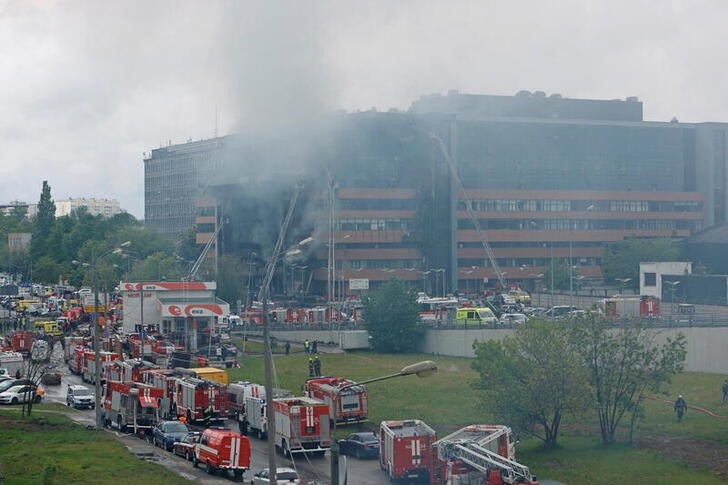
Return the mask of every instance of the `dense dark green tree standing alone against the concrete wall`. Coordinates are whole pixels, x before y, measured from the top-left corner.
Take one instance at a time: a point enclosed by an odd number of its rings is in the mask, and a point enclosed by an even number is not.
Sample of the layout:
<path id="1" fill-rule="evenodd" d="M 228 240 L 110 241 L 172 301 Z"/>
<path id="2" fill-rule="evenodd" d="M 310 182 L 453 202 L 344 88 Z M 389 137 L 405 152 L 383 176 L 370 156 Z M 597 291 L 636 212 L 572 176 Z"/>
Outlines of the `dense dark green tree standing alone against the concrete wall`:
<path id="1" fill-rule="evenodd" d="M 415 293 L 396 279 L 364 299 L 364 326 L 377 352 L 415 352 L 425 334 Z"/>

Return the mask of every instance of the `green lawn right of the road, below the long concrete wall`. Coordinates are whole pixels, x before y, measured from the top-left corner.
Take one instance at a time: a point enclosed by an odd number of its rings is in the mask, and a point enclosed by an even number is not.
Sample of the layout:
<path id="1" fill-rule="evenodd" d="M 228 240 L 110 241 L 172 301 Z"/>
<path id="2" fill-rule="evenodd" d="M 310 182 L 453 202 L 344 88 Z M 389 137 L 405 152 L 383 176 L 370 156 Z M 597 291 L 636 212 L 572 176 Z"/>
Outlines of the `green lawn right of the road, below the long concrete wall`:
<path id="1" fill-rule="evenodd" d="M 428 378 L 397 377 L 372 383 L 369 389 L 370 427 L 383 419 L 419 418 L 425 420 L 444 436 L 447 432 L 473 423 L 488 423 L 487 410 L 477 406 L 478 395 L 471 388 L 477 374 L 471 370 L 471 359 L 457 357 L 413 355 L 382 355 L 375 353 L 322 354 L 322 371 L 327 375 L 353 380 L 387 375 L 421 360 L 435 360 L 438 373 Z M 295 354 L 274 356 L 277 387 L 301 392 L 307 378 L 308 356 Z M 231 380 L 263 382 L 263 359 L 245 357 L 241 369 L 231 369 Z M 728 406 L 720 402 L 720 384 L 724 376 L 685 373 L 665 386 L 673 401 L 678 393 L 695 404 L 718 414 L 728 414 Z M 686 419 L 677 423 L 671 403 L 646 403 L 646 419 L 640 423 L 637 436 L 668 435 L 691 437 L 728 446 L 728 420 L 719 420 L 688 410 Z M 339 430 L 339 436 L 346 429 Z M 624 439 L 622 433 L 620 439 Z M 700 465 L 676 461 L 672 457 L 619 443 L 605 447 L 600 444 L 597 422 L 591 418 L 575 421 L 568 416 L 563 421 L 560 447 L 544 450 L 540 442 L 524 439 L 518 446 L 519 461 L 541 478 L 574 484 L 725 483 Z"/>

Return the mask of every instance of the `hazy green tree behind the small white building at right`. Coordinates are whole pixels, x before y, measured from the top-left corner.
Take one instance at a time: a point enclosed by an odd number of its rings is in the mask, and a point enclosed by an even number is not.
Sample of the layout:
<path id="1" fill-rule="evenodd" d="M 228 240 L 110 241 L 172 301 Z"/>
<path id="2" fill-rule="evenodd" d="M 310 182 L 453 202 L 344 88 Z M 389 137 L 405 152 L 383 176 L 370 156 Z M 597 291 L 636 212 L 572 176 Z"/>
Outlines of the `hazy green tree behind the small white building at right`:
<path id="1" fill-rule="evenodd" d="M 632 236 L 605 249 L 603 267 L 608 279 L 629 278 L 632 285 L 638 285 L 641 262 L 679 259 L 680 248 L 670 238 L 641 239 Z"/>

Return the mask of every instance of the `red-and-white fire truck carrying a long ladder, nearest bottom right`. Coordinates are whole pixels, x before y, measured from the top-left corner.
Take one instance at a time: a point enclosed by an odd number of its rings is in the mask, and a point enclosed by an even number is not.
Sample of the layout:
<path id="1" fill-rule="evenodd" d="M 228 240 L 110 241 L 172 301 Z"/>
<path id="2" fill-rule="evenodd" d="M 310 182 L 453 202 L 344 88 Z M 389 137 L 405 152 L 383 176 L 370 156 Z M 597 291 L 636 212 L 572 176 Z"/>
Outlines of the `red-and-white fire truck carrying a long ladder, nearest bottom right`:
<path id="1" fill-rule="evenodd" d="M 515 460 L 508 426 L 466 426 L 435 441 L 430 485 L 538 485 L 528 467 Z"/>

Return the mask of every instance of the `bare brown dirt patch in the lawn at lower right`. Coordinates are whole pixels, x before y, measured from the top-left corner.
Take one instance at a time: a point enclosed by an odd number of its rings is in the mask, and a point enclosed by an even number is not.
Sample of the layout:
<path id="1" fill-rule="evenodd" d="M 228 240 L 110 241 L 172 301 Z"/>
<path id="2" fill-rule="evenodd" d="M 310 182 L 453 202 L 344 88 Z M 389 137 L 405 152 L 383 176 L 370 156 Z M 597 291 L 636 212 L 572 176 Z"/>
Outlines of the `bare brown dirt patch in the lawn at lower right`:
<path id="1" fill-rule="evenodd" d="M 706 468 L 728 482 L 728 446 L 696 438 L 676 436 L 642 436 L 635 439 L 638 448 L 657 451 L 676 461 Z"/>

